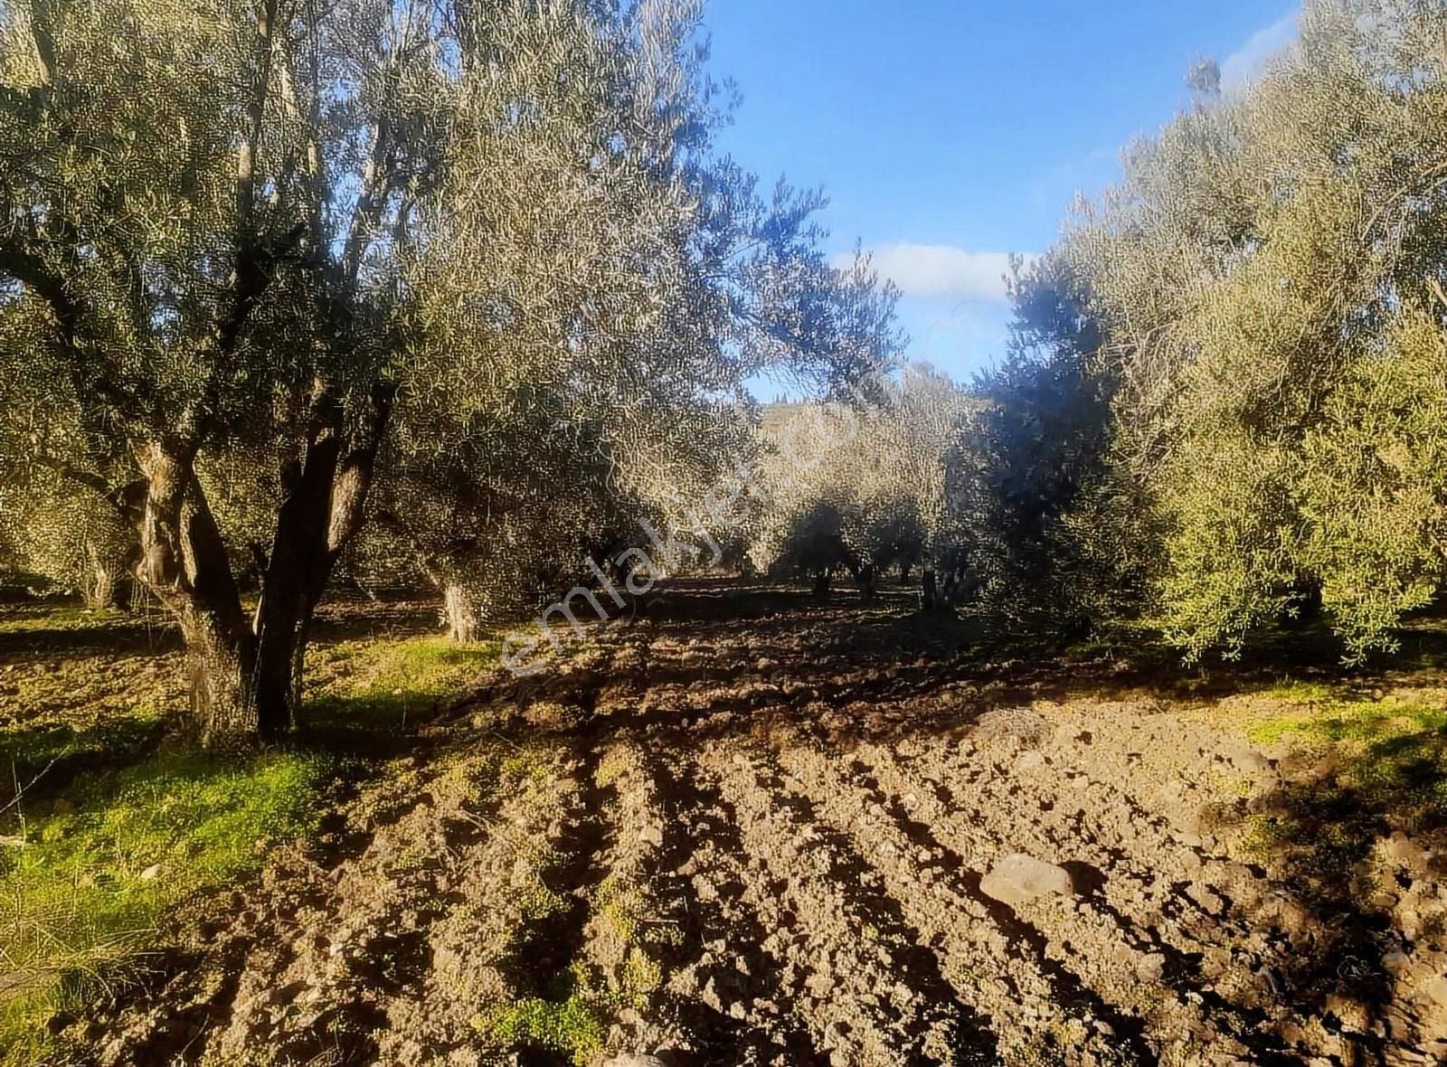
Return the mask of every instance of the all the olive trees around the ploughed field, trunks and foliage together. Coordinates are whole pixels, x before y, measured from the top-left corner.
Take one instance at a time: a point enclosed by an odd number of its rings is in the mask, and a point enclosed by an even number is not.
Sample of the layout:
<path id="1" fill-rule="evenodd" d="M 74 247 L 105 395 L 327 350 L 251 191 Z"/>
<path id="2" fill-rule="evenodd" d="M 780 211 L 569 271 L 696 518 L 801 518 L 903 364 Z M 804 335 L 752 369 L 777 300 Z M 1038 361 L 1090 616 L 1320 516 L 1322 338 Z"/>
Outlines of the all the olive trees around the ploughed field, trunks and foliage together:
<path id="1" fill-rule="evenodd" d="M 207 740 L 291 727 L 336 578 L 469 640 L 738 471 L 719 564 L 1001 632 L 1315 613 L 1360 659 L 1437 597 L 1443 0 L 1197 67 L 968 386 L 900 364 L 819 195 L 715 152 L 696 0 L 0 13 L 0 570 L 159 600 Z"/>

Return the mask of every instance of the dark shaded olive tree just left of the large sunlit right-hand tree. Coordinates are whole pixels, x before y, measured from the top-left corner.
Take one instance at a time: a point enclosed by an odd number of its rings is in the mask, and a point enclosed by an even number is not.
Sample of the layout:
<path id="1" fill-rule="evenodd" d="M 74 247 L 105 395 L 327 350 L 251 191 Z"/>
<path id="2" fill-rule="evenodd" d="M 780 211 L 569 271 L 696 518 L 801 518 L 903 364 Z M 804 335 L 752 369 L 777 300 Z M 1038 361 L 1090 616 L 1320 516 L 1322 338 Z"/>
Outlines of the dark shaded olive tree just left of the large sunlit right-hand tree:
<path id="1" fill-rule="evenodd" d="M 952 599 L 991 629 L 1079 632 L 1133 609 L 1149 545 L 1114 463 L 1116 379 L 1069 267 L 1017 265 L 1010 348 L 946 455 Z"/>

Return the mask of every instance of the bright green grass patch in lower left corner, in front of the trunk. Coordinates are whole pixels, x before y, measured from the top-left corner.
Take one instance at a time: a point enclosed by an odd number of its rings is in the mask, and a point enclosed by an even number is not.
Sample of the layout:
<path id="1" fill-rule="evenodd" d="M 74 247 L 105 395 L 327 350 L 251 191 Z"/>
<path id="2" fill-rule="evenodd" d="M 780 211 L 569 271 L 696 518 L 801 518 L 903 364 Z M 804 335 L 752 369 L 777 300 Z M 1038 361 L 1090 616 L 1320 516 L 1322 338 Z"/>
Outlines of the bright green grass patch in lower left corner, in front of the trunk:
<path id="1" fill-rule="evenodd" d="M 126 980 L 165 912 L 315 828 L 323 760 L 162 753 L 75 789 L 0 849 L 0 1063 L 43 1061 L 45 1022 Z"/>

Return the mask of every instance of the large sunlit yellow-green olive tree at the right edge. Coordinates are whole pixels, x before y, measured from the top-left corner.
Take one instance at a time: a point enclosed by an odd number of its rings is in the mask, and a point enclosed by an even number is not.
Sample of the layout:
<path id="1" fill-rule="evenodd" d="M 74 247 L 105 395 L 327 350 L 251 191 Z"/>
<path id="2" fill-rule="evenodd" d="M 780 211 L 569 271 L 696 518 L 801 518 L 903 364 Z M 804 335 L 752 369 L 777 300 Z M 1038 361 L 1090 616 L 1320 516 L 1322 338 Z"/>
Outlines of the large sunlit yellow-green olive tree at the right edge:
<path id="1" fill-rule="evenodd" d="M 1308 0 L 1255 84 L 1127 153 L 1058 254 L 1189 656 L 1315 603 L 1359 659 L 1437 591 L 1447 6 Z"/>

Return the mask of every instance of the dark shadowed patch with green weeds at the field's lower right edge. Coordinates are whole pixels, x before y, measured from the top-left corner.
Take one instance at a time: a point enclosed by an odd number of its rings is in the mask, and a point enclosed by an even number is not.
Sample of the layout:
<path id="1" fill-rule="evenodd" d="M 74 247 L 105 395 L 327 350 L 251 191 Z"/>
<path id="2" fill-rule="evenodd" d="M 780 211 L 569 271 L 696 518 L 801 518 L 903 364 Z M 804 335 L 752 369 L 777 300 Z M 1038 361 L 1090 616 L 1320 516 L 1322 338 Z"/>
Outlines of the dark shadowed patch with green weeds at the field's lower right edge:
<path id="1" fill-rule="evenodd" d="M 1356 1061 L 1440 1063 L 1440 1006 L 1411 995 L 1447 963 L 1447 708 L 1360 698 L 1318 716 L 1299 726 L 1315 762 L 1224 815 L 1304 909 L 1273 982 L 1349 1031 Z"/>

